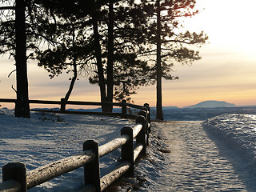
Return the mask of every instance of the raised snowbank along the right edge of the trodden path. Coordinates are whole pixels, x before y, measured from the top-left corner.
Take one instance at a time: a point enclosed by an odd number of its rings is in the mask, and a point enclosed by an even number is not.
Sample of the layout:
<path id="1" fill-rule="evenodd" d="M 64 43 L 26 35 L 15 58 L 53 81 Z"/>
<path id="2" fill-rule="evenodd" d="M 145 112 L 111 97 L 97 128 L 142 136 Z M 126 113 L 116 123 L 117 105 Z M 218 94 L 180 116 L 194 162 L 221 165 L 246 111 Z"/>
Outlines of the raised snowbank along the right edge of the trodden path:
<path id="1" fill-rule="evenodd" d="M 256 115 L 223 114 L 206 120 L 203 126 L 237 148 L 256 168 Z"/>

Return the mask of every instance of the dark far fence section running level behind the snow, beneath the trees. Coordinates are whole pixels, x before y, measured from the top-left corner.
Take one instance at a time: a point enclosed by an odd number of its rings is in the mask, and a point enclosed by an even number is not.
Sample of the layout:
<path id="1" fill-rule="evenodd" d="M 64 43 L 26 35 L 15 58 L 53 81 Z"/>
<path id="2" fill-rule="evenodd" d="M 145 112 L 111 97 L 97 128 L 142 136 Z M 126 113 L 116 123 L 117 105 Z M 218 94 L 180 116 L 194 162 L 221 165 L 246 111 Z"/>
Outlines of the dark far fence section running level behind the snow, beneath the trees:
<path id="1" fill-rule="evenodd" d="M 0 98 L 0 102 L 16 102 L 16 99 L 10 98 Z M 64 98 L 61 101 L 46 101 L 46 100 L 29 100 L 30 103 L 33 104 L 49 104 L 49 105 L 59 105 L 60 110 L 34 110 L 34 111 L 45 111 L 50 113 L 62 113 L 62 114 L 103 114 L 110 116 L 121 116 L 122 118 L 136 118 L 136 115 L 127 113 L 127 107 L 142 110 L 143 108 L 148 108 L 149 104 L 145 103 L 144 106 L 134 105 L 131 103 L 127 103 L 126 100 L 122 100 L 122 102 L 78 102 L 78 101 L 64 101 Z M 103 112 L 92 112 L 92 111 L 71 111 L 66 110 L 66 105 L 77 105 L 77 106 L 119 106 L 122 107 L 121 113 L 103 113 Z"/>

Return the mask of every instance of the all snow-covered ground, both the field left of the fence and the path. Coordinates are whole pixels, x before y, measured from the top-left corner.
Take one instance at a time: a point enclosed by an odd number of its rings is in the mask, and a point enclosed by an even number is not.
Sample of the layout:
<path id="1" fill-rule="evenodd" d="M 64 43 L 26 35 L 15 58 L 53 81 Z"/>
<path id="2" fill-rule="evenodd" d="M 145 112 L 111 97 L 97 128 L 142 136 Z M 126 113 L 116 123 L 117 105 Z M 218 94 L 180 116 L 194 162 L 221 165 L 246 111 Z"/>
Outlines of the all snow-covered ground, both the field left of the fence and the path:
<path id="1" fill-rule="evenodd" d="M 118 137 L 123 126 L 134 125 L 103 116 L 32 113 L 24 119 L 13 114 L 0 109 L 0 166 L 24 162 L 27 170 L 77 154 L 88 139 L 102 145 Z M 254 115 L 153 122 L 147 157 L 136 163 L 135 178 L 108 191 L 256 191 L 255 129 Z M 119 155 L 117 151 L 100 159 L 102 175 Z M 78 191 L 82 186 L 80 168 L 29 191 Z"/>

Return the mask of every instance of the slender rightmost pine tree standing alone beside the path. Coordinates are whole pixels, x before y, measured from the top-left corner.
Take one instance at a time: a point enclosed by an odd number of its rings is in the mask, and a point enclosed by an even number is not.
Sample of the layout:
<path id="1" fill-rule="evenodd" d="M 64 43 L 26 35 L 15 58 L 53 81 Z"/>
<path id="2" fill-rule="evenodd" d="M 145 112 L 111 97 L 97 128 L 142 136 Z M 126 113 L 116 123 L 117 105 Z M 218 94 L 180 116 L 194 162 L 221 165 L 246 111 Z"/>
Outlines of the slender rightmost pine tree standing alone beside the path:
<path id="1" fill-rule="evenodd" d="M 147 36 L 151 49 L 148 49 L 146 54 L 156 55 L 156 118 L 163 119 L 162 78 L 177 78 L 168 73 L 174 61 L 191 63 L 200 59 L 199 52 L 188 47 L 202 45 L 208 37 L 203 32 L 196 34 L 178 30 L 182 28 L 181 18 L 198 14 L 198 10 L 194 10 L 195 0 L 144 0 L 142 3 L 144 9 L 150 10 L 151 13 L 150 32 Z"/>

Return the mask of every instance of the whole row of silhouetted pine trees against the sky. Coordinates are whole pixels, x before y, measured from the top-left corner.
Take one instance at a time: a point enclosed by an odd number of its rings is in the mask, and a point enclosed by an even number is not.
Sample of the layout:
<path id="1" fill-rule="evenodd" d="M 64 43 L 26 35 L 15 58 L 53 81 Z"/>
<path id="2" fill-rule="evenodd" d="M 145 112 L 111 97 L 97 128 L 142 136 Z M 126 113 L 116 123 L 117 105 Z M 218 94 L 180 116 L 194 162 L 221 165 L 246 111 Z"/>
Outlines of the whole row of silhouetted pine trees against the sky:
<path id="1" fill-rule="evenodd" d="M 181 32 L 182 19 L 198 14 L 195 0 L 1 0 L 0 54 L 15 60 L 15 115 L 30 118 L 27 59 L 50 73 L 72 73 L 68 101 L 78 74 L 98 84 L 101 102 L 121 101 L 139 86 L 157 84 L 162 119 L 162 78 L 176 79 L 174 62 L 200 59 L 192 46 L 202 33 Z M 103 112 L 112 106 L 102 105 Z"/>

